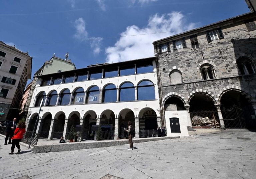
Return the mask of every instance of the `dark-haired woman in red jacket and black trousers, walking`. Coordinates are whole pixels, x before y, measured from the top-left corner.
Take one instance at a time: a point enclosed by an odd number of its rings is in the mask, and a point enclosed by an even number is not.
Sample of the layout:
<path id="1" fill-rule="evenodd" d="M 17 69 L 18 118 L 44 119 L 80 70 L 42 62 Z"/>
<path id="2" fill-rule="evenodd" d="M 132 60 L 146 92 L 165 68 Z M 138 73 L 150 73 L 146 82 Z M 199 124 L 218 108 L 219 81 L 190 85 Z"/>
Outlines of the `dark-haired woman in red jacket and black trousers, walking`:
<path id="1" fill-rule="evenodd" d="M 14 135 L 12 137 L 12 152 L 9 153 L 10 155 L 13 154 L 15 145 L 18 148 L 18 152 L 20 152 L 20 141 L 23 138 L 23 134 L 26 132 L 26 124 L 25 122 L 20 122 L 19 126 L 15 129 Z"/>

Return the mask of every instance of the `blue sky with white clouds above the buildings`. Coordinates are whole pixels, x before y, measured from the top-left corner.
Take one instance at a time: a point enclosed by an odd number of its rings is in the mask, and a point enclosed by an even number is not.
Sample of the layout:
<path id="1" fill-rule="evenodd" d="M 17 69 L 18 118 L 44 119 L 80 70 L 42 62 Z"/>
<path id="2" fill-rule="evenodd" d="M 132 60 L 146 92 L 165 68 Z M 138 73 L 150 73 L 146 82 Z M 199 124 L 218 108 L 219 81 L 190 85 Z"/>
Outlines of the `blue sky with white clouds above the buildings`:
<path id="1" fill-rule="evenodd" d="M 1 0 L 0 41 L 76 68 L 153 57 L 152 42 L 249 12 L 244 0 Z M 166 33 L 167 32 L 167 33 Z M 146 35 L 143 35 L 146 34 Z"/>

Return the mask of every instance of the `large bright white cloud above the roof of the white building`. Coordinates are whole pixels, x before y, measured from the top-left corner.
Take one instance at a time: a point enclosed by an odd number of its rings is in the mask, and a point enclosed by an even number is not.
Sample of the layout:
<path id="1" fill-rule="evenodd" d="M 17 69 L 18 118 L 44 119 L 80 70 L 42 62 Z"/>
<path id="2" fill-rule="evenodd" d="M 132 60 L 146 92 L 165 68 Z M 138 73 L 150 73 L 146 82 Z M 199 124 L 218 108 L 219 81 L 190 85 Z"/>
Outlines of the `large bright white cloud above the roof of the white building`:
<path id="1" fill-rule="evenodd" d="M 195 28 L 195 23 L 187 23 L 181 12 L 151 16 L 145 28 L 128 26 L 113 47 L 107 47 L 106 62 L 121 62 L 154 56 L 152 42 Z M 168 32 L 168 33 L 160 33 Z M 155 33 L 155 34 L 154 34 Z M 149 35 L 139 35 L 149 34 Z M 137 36 L 131 36 L 137 35 Z M 124 37 L 129 36 L 129 37 Z"/>

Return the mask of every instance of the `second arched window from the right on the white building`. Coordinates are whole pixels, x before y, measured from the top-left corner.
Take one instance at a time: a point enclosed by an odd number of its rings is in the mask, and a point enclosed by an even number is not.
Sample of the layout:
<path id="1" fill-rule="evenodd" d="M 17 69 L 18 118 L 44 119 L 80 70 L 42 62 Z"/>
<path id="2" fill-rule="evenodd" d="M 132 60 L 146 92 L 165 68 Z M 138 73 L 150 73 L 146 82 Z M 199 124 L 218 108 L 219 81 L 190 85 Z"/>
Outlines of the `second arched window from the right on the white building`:
<path id="1" fill-rule="evenodd" d="M 130 82 L 124 83 L 119 90 L 119 101 L 134 101 L 135 88 Z"/>

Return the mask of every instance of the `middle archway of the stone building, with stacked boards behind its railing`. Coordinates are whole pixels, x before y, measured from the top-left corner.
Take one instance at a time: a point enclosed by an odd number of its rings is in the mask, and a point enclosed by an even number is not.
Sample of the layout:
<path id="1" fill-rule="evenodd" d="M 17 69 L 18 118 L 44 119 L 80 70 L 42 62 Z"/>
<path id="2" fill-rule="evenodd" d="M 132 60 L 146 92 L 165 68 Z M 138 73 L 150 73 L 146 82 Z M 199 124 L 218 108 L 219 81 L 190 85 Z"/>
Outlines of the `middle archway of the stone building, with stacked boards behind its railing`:
<path id="1" fill-rule="evenodd" d="M 189 100 L 189 113 L 193 128 L 219 128 L 216 101 L 207 93 L 196 93 Z"/>

